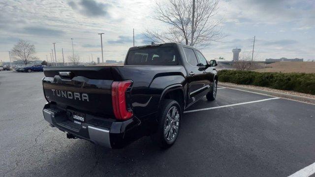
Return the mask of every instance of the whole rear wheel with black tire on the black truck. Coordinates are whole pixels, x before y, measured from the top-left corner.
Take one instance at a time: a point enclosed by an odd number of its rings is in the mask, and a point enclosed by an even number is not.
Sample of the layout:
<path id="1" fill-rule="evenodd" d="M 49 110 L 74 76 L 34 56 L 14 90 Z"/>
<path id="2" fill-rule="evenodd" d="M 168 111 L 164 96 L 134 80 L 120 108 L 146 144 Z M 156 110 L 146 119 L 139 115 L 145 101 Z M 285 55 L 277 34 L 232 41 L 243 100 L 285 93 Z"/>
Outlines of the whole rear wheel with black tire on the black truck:
<path id="1" fill-rule="evenodd" d="M 165 99 L 159 109 L 157 132 L 151 135 L 151 139 L 161 148 L 171 147 L 178 137 L 181 118 L 182 110 L 178 102 Z"/>

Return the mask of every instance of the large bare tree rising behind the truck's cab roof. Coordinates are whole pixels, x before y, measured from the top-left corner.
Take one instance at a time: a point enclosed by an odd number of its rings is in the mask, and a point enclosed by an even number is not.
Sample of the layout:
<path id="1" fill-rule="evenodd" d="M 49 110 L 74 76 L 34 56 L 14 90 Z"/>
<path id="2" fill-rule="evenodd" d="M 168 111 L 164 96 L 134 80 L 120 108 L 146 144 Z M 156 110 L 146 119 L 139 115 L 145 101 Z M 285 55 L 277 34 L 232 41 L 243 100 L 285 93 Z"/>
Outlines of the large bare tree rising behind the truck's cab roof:
<path id="1" fill-rule="evenodd" d="M 157 2 L 153 18 L 166 23 L 166 31 L 147 29 L 145 35 L 154 42 L 179 42 L 190 46 L 207 46 L 213 41 L 225 37 L 219 25 L 221 20 L 213 17 L 217 14 L 220 0 L 196 0 L 194 28 L 192 23 L 192 0 L 169 0 L 166 4 Z M 191 32 L 194 32 L 192 44 Z"/>

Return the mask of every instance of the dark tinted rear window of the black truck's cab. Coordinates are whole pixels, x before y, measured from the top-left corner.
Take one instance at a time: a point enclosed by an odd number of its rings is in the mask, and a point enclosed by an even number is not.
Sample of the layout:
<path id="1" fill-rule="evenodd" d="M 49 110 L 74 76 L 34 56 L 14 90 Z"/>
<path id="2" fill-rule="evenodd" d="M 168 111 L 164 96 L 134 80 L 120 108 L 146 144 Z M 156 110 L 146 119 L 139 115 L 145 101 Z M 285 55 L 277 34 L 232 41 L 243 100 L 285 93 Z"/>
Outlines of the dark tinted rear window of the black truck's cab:
<path id="1" fill-rule="evenodd" d="M 127 65 L 178 65 L 173 47 L 145 48 L 129 51 Z"/>

